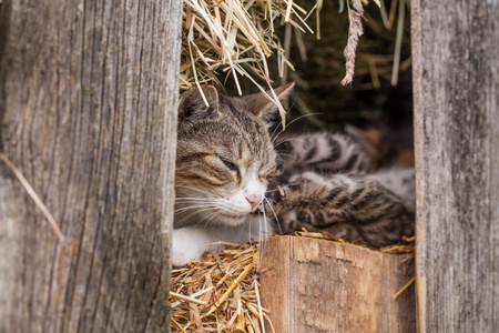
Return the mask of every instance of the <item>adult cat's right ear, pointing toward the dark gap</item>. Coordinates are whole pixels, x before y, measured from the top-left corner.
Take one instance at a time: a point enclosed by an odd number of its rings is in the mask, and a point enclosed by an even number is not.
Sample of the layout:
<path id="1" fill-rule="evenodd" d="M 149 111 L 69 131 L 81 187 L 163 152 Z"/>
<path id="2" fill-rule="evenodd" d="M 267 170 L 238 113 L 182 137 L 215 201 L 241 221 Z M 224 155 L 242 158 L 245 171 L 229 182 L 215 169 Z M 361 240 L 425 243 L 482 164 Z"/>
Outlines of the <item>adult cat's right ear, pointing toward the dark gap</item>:
<path id="1" fill-rule="evenodd" d="M 295 82 L 291 82 L 286 85 L 281 85 L 274 89 L 274 92 L 279 101 L 283 101 L 287 98 L 287 95 L 292 92 L 294 85 Z M 266 93 L 272 97 L 272 92 L 269 90 L 267 90 Z M 265 121 L 273 118 L 275 112 L 277 111 L 277 105 L 268 98 L 266 98 L 262 92 L 242 97 L 241 99 L 243 99 L 246 110 Z"/>

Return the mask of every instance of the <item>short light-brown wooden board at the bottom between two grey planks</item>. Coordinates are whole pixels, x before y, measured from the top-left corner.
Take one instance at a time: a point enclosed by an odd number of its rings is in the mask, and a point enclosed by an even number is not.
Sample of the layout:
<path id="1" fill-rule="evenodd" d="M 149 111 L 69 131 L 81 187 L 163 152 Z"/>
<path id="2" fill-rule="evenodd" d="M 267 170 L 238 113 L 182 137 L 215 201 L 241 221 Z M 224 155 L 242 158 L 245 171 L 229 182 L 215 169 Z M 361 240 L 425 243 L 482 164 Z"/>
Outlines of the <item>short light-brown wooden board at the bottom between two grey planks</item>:
<path id="1" fill-rule="evenodd" d="M 415 332 L 407 255 L 297 236 L 265 242 L 262 302 L 276 332 Z M 267 331 L 268 332 L 268 331 Z"/>

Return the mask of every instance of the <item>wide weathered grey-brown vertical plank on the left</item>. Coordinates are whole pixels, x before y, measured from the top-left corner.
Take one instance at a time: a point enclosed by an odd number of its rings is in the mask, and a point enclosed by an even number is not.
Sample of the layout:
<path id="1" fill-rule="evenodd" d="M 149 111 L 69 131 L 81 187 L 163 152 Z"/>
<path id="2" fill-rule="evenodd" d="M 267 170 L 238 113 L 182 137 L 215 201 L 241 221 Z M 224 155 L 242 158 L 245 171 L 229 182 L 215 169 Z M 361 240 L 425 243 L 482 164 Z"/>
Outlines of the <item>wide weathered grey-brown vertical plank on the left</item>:
<path id="1" fill-rule="evenodd" d="M 166 332 L 182 1 L 4 1 L 0 331 Z"/>

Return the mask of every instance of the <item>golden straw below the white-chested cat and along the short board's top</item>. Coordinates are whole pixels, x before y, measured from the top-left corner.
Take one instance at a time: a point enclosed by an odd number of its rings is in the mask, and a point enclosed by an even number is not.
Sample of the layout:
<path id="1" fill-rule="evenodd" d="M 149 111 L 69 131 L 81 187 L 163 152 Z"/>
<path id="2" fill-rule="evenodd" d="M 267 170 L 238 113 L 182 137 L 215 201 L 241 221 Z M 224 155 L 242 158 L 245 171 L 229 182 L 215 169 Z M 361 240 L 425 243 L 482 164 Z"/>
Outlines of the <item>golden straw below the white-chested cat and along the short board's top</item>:
<path id="1" fill-rule="evenodd" d="M 328 232 L 304 230 L 296 232 L 296 235 L 348 243 Z M 358 245 L 356 242 L 349 244 Z M 414 254 L 414 236 L 405 238 L 404 244 L 369 249 L 384 253 Z M 220 244 L 226 245 L 227 250 L 210 252 L 201 260 L 172 270 L 172 332 L 266 332 L 265 325 L 273 332 L 269 310 L 262 307 L 259 301 L 258 244 Z M 414 280 L 394 299 L 411 283 Z"/>

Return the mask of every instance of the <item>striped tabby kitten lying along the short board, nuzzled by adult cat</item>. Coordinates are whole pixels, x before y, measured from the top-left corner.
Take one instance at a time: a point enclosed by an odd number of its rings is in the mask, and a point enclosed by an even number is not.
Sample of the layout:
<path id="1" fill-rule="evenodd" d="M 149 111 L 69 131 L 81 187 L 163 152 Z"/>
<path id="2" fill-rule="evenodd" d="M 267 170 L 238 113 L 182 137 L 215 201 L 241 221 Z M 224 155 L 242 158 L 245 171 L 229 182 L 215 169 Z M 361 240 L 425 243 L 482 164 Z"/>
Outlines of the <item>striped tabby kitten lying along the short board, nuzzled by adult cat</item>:
<path id="1" fill-rule="evenodd" d="M 386 246 L 414 234 L 414 168 L 370 174 L 308 171 L 271 193 L 283 233 L 302 228 L 328 231 L 347 241 L 361 236 L 367 245 Z"/>

